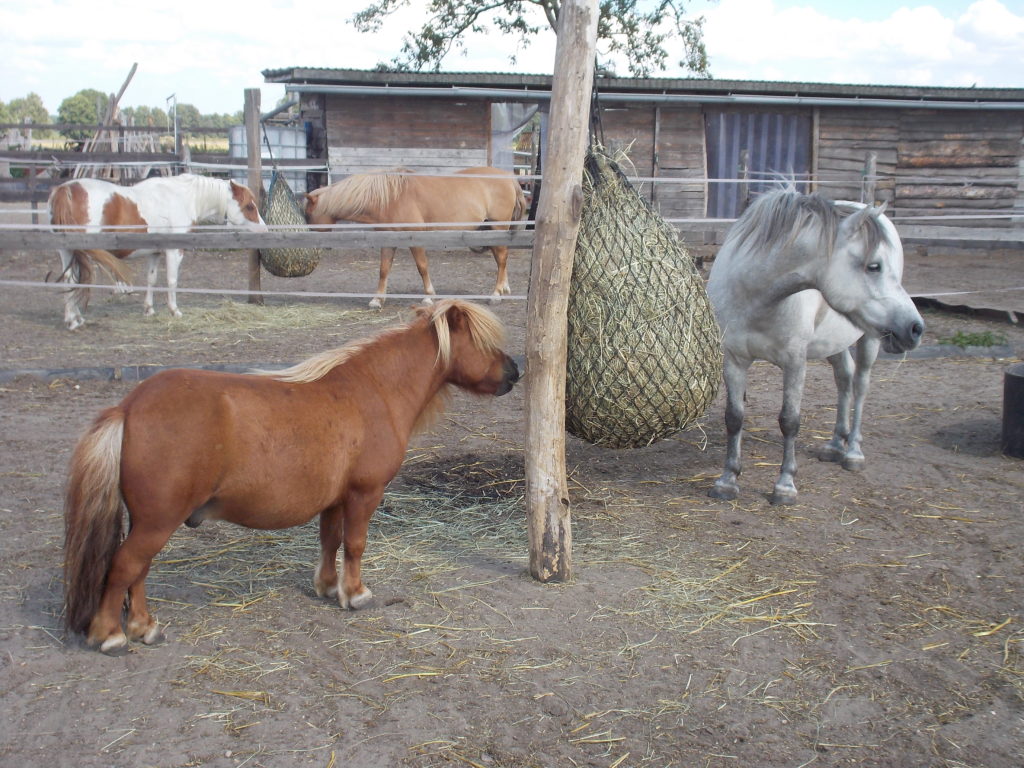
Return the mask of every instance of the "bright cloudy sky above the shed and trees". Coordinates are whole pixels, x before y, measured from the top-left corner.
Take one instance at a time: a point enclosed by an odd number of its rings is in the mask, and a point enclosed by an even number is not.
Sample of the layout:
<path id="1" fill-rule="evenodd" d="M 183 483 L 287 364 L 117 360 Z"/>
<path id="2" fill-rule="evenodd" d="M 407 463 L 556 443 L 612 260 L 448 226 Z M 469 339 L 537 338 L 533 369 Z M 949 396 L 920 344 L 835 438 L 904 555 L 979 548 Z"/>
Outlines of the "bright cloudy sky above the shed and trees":
<path id="1" fill-rule="evenodd" d="M 123 106 L 167 109 L 176 99 L 204 114 L 234 113 L 245 89 L 258 87 L 268 112 L 285 90 L 266 85 L 263 70 L 373 69 L 426 18 L 426 0 L 411 0 L 378 34 L 359 34 L 350 17 L 366 4 L 105 0 L 100 9 L 83 0 L 4 2 L 0 101 L 35 92 L 55 114 L 82 89 L 116 92 L 137 62 Z M 705 18 L 716 78 L 1024 88 L 1024 0 L 689 0 L 685 7 Z M 553 33 L 523 50 L 497 31 L 465 43 L 442 71 L 553 70 Z M 672 68 L 656 76 L 686 73 Z"/>

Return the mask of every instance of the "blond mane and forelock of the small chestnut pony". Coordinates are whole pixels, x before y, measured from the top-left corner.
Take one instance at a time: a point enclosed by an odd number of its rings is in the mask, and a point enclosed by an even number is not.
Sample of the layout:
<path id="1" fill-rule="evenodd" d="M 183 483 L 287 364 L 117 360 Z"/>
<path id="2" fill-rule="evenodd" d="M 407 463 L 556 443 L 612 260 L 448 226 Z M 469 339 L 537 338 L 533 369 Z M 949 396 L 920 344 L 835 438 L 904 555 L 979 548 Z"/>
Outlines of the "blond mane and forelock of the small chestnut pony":
<path id="1" fill-rule="evenodd" d="M 418 308 L 416 317 L 404 326 L 384 331 L 370 339 L 362 339 L 343 347 L 314 354 L 312 357 L 283 371 L 257 371 L 255 373 L 260 376 L 269 376 L 279 381 L 313 382 L 323 379 L 335 368 L 359 352 L 413 329 L 424 322 L 424 318 L 434 327 L 437 334 L 437 359 L 446 367 L 452 359 L 452 330 L 449 324 L 449 312 L 453 309 L 462 313 L 468 326 L 470 338 L 477 349 L 483 352 L 501 349 L 505 342 L 505 329 L 494 312 L 467 301 L 444 299 L 432 307 Z"/>

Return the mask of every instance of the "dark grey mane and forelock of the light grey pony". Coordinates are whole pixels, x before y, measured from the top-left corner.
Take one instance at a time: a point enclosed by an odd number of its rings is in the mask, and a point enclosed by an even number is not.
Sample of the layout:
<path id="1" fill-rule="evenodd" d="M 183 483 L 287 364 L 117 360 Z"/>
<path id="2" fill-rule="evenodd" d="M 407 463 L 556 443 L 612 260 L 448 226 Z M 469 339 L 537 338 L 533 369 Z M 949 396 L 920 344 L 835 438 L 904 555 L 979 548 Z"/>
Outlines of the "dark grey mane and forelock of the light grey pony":
<path id="1" fill-rule="evenodd" d="M 854 213 L 821 195 L 804 195 L 786 185 L 758 196 L 732 225 L 726 243 L 757 243 L 760 249 L 774 250 L 790 246 L 800 236 L 813 238 L 815 247 L 831 256 L 841 222 Z M 877 214 L 862 217 L 861 230 L 866 257 L 886 236 Z"/>

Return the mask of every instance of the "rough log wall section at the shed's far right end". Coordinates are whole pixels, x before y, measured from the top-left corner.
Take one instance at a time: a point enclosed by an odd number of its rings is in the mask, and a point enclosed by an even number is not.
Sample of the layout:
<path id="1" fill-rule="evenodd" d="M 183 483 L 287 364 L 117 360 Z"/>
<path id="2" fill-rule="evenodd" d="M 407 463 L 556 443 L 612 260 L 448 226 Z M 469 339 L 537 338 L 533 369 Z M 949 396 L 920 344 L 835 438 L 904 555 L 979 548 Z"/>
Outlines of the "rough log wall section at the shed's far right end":
<path id="1" fill-rule="evenodd" d="M 1015 112 L 903 112 L 897 145 L 897 213 L 1012 212 L 1020 180 L 1022 124 L 1024 117 Z M 955 223 L 1008 226 L 1010 221 Z"/>

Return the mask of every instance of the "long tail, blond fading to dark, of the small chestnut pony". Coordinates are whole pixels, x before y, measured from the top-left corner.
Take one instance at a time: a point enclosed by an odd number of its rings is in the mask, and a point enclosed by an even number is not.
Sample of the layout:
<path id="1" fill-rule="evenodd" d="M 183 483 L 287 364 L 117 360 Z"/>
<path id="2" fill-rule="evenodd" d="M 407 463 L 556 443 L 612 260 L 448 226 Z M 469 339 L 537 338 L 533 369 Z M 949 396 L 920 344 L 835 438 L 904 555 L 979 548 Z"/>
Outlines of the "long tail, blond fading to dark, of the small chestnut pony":
<path id="1" fill-rule="evenodd" d="M 84 633 L 99 607 L 124 530 L 124 412 L 108 409 L 79 440 L 65 496 L 65 627 Z"/>

